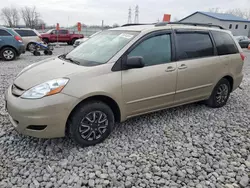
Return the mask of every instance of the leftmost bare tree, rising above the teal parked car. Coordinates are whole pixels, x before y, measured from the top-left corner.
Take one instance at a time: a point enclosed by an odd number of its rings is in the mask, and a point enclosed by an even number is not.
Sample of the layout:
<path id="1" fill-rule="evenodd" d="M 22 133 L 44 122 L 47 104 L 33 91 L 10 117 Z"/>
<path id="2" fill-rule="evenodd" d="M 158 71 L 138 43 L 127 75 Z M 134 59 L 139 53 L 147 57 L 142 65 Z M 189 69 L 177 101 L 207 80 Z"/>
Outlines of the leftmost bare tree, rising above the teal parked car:
<path id="1" fill-rule="evenodd" d="M 16 27 L 20 20 L 18 10 L 14 7 L 2 8 L 1 17 L 9 27 Z"/>

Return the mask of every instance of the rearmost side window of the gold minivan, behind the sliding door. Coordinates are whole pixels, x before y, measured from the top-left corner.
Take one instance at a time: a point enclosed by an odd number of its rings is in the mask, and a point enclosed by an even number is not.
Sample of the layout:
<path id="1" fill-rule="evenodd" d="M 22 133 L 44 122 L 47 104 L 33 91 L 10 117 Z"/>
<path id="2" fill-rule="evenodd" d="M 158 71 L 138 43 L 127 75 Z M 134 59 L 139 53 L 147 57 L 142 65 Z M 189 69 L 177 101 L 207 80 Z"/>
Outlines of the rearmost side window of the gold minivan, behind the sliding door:
<path id="1" fill-rule="evenodd" d="M 239 50 L 232 37 L 225 32 L 212 31 L 218 55 L 239 53 Z"/>

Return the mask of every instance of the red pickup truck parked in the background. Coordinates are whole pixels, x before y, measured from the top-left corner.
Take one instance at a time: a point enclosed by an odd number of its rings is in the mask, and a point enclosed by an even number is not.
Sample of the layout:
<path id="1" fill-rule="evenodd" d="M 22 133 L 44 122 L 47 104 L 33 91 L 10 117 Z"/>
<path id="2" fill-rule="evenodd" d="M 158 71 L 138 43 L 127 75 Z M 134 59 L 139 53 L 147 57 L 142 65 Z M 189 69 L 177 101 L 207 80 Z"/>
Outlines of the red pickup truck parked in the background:
<path id="1" fill-rule="evenodd" d="M 58 32 L 58 36 L 57 36 Z M 75 40 L 83 38 L 82 34 L 71 34 L 69 30 L 60 29 L 60 30 L 49 30 L 46 33 L 41 34 L 42 40 L 45 43 L 51 42 L 67 42 L 69 45 L 74 44 Z M 57 39 L 58 38 L 58 39 Z"/>

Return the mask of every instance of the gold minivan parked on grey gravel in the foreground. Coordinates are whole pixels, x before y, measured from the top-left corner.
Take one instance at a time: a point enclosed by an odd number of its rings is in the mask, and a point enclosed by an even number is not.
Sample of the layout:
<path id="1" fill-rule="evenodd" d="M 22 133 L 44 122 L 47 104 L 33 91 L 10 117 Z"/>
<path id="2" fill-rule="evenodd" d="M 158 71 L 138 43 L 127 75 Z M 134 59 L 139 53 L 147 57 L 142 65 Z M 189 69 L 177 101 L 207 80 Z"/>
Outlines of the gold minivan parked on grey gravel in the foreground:
<path id="1" fill-rule="evenodd" d="M 22 134 L 69 135 L 90 146 L 134 116 L 197 101 L 224 106 L 242 81 L 243 62 L 220 27 L 125 25 L 26 67 L 6 92 L 6 108 Z"/>

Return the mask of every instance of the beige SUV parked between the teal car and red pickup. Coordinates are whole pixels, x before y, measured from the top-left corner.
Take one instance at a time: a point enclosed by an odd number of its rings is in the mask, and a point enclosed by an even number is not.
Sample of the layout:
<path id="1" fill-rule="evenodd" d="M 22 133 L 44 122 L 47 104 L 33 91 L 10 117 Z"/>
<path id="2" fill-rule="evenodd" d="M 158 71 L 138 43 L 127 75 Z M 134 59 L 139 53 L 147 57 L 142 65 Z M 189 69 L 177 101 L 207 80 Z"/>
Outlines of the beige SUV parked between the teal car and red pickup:
<path id="1" fill-rule="evenodd" d="M 42 42 L 41 35 L 35 29 L 15 28 L 14 30 L 22 37 L 26 50 L 32 51 L 35 48 L 35 42 Z"/>

